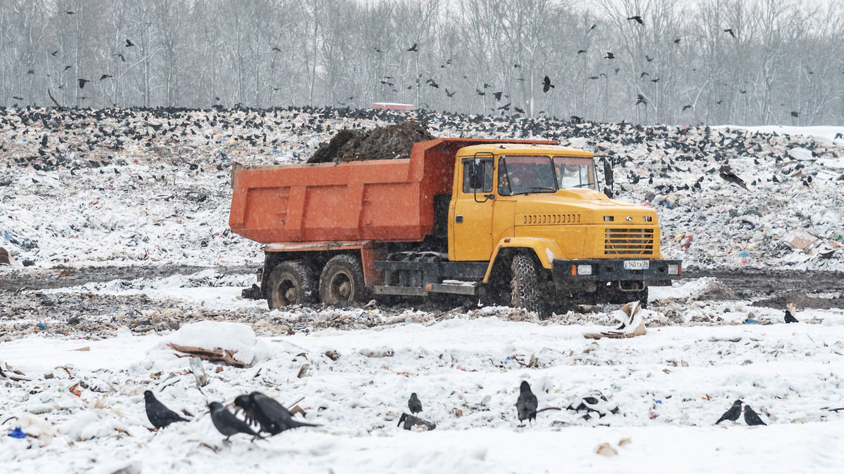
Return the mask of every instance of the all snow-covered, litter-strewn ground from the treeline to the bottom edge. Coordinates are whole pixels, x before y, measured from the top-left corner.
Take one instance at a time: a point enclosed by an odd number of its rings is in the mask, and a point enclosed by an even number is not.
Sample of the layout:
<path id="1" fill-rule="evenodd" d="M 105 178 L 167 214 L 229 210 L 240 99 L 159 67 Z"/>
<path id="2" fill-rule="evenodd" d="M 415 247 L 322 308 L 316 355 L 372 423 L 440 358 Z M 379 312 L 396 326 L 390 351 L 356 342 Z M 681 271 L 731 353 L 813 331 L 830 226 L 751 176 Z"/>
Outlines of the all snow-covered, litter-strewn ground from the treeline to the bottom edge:
<path id="1" fill-rule="evenodd" d="M 3 116 L 0 246 L 12 266 L 0 267 L 0 278 L 59 282 L 64 268 L 85 267 L 207 269 L 116 274 L 112 281 L 50 289 L 3 286 L 0 466 L 9 471 L 837 472 L 844 466 L 837 449 L 844 413 L 834 411 L 844 407 L 840 291 L 814 295 L 829 300 L 823 307 L 830 309 L 798 307 L 801 322 L 786 325 L 781 307 L 760 304 L 766 294 L 712 299 L 716 281 L 682 281 L 652 291 L 645 336 L 598 341 L 583 334 L 613 325 L 613 306 L 547 321 L 504 307 L 268 311 L 265 302 L 240 297 L 254 281 L 245 269 L 259 266 L 262 252 L 228 229 L 231 162 L 298 162 L 339 128 L 381 126 L 397 116 L 124 112 L 59 120 L 47 110 L 43 121 L 29 116 L 25 123 Z M 609 149 L 619 158 L 619 198 L 657 209 L 663 255 L 683 258 L 687 268 L 844 269 L 844 139 L 836 137 L 844 127 L 636 129 L 417 118 L 441 137 L 554 137 Z M 221 125 L 224 119 L 231 127 Z M 725 163 L 749 191 L 718 177 Z M 795 231 L 832 251 L 793 250 L 784 240 Z M 679 245 L 684 235 L 694 237 L 689 249 Z M 244 270 L 233 273 L 237 268 Z M 192 326 L 199 321 L 205 326 Z M 169 342 L 225 343 L 254 360 L 246 368 L 204 362 L 209 382 L 200 391 L 188 358 L 177 357 Z M 519 427 L 514 404 L 522 380 L 539 407 L 563 409 Z M 151 433 L 147 389 L 192 421 Z M 298 401 L 306 420 L 320 426 L 225 443 L 207 403 L 256 390 Z M 590 391 L 619 411 L 584 419 L 565 409 Z M 396 426 L 411 392 L 435 430 Z M 741 420 L 714 426 L 738 398 L 768 426 L 749 428 Z M 18 425 L 26 438 L 5 435 Z M 617 454 L 597 454 L 601 444 L 612 448 L 602 452 Z"/>

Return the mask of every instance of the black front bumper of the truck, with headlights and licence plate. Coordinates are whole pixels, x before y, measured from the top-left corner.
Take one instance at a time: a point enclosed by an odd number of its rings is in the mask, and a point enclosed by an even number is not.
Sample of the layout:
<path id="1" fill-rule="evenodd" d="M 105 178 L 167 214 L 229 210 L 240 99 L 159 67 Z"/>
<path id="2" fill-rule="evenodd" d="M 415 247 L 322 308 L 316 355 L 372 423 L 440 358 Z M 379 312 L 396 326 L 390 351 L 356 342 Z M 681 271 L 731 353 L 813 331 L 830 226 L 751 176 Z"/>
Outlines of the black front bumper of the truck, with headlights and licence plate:
<path id="1" fill-rule="evenodd" d="M 672 278 L 681 277 L 681 260 L 648 260 L 647 268 L 630 270 L 625 268 L 625 261 L 642 259 L 591 259 L 563 260 L 555 258 L 551 270 L 554 282 L 644 282 L 646 286 L 668 286 Z M 668 267 L 677 266 L 677 274 L 669 274 Z M 588 274 L 581 272 L 589 268 Z"/>

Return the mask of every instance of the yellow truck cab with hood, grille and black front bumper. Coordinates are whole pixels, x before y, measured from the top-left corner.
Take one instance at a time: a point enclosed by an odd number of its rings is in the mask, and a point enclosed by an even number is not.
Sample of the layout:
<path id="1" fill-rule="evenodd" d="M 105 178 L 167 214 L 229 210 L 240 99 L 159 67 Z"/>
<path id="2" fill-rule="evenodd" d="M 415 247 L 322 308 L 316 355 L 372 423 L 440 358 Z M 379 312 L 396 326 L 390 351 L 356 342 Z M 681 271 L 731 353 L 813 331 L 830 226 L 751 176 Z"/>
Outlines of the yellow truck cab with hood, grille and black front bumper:
<path id="1" fill-rule="evenodd" d="M 599 191 L 587 151 L 468 146 L 457 151 L 453 183 L 448 258 L 490 261 L 486 284 L 499 273 L 495 261 L 516 255 L 533 267 L 528 272 L 537 277 L 526 284 L 539 294 L 647 302 L 648 286 L 679 276 L 680 262 L 662 259 L 657 213 Z"/>

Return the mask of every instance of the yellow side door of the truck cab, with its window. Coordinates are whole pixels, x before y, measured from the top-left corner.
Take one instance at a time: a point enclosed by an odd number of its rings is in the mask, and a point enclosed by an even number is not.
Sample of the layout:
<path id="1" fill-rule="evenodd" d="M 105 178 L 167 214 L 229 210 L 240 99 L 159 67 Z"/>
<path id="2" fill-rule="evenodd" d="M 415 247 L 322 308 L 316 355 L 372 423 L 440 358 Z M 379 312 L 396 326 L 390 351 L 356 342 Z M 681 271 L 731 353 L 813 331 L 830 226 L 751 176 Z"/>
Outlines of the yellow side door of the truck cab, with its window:
<path id="1" fill-rule="evenodd" d="M 463 186 L 449 213 L 449 259 L 483 261 L 492 256 L 493 159 L 461 161 Z"/>

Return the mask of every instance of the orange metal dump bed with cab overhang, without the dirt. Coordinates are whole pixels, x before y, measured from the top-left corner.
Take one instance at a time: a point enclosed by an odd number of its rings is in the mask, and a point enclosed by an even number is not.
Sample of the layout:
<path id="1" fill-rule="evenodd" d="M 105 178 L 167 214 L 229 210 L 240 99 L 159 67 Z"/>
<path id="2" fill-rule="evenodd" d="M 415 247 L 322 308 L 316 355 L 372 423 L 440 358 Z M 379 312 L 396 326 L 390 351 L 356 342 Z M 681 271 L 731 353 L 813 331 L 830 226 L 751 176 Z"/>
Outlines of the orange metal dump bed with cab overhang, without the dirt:
<path id="1" fill-rule="evenodd" d="M 229 225 L 261 244 L 424 240 L 434 197 L 452 193 L 457 150 L 481 143 L 537 142 L 440 138 L 414 143 L 409 159 L 235 164 Z"/>

